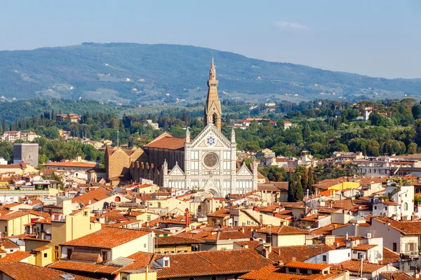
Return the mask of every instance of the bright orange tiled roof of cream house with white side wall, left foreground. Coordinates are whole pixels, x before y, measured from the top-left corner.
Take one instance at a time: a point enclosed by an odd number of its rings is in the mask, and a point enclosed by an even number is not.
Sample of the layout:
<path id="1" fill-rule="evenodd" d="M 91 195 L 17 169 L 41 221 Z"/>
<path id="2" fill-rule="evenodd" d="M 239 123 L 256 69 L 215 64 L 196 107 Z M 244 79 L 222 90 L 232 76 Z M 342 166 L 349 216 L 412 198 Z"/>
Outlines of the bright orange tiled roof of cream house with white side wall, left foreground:
<path id="1" fill-rule="evenodd" d="M 107 227 L 98 230 L 98 232 L 85 235 L 84 237 L 67 241 L 62 245 L 91 248 L 114 248 L 147 234 L 149 234 L 149 232 L 143 230 Z"/>

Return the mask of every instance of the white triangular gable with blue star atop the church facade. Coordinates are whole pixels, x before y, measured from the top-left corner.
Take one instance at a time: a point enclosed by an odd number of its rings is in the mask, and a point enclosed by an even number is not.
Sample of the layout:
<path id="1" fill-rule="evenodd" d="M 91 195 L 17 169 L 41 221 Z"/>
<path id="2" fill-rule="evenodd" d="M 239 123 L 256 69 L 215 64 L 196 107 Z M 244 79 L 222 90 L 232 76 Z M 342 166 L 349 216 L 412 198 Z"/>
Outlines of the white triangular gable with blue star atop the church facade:
<path id="1" fill-rule="evenodd" d="M 192 147 L 209 147 L 209 148 L 229 148 L 231 142 L 220 132 L 212 123 L 197 135 L 193 141 Z"/>

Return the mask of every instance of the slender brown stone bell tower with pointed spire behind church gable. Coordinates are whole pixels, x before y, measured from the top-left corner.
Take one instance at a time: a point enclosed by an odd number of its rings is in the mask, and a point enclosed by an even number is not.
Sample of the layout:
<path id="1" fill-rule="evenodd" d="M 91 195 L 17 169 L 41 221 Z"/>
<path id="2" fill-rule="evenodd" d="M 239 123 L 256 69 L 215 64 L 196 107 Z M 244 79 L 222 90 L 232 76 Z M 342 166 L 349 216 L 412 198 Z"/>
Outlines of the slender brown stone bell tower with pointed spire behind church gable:
<path id="1" fill-rule="evenodd" d="M 215 64 L 210 64 L 208 80 L 208 97 L 206 98 L 204 120 L 205 125 L 213 123 L 218 130 L 221 130 L 221 104 L 218 98 L 218 80 L 216 79 Z"/>

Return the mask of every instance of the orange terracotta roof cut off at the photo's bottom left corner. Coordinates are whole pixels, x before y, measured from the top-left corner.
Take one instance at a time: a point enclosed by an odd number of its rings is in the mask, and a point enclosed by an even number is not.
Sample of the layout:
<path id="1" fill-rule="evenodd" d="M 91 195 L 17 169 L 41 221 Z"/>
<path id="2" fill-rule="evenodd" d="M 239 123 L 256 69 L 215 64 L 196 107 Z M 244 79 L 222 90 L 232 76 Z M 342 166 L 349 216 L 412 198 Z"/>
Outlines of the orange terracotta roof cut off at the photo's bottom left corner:
<path id="1" fill-rule="evenodd" d="M 39 267 L 36 265 L 29 265 L 25 262 L 1 262 L 0 271 L 7 274 L 15 280 L 27 279 L 44 279 L 57 280 L 62 279 L 60 275 L 63 272 L 48 267 Z M 76 280 L 93 280 L 85 276 L 73 275 Z"/>

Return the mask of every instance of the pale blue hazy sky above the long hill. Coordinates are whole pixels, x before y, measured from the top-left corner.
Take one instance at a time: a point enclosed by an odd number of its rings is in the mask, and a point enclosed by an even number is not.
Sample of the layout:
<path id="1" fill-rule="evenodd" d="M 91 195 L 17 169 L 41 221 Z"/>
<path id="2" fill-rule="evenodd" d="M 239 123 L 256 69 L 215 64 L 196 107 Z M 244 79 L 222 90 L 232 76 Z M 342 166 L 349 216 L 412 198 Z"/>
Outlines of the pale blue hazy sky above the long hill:
<path id="1" fill-rule="evenodd" d="M 421 1 L 0 1 L 0 50 L 175 43 L 421 78 Z"/>

